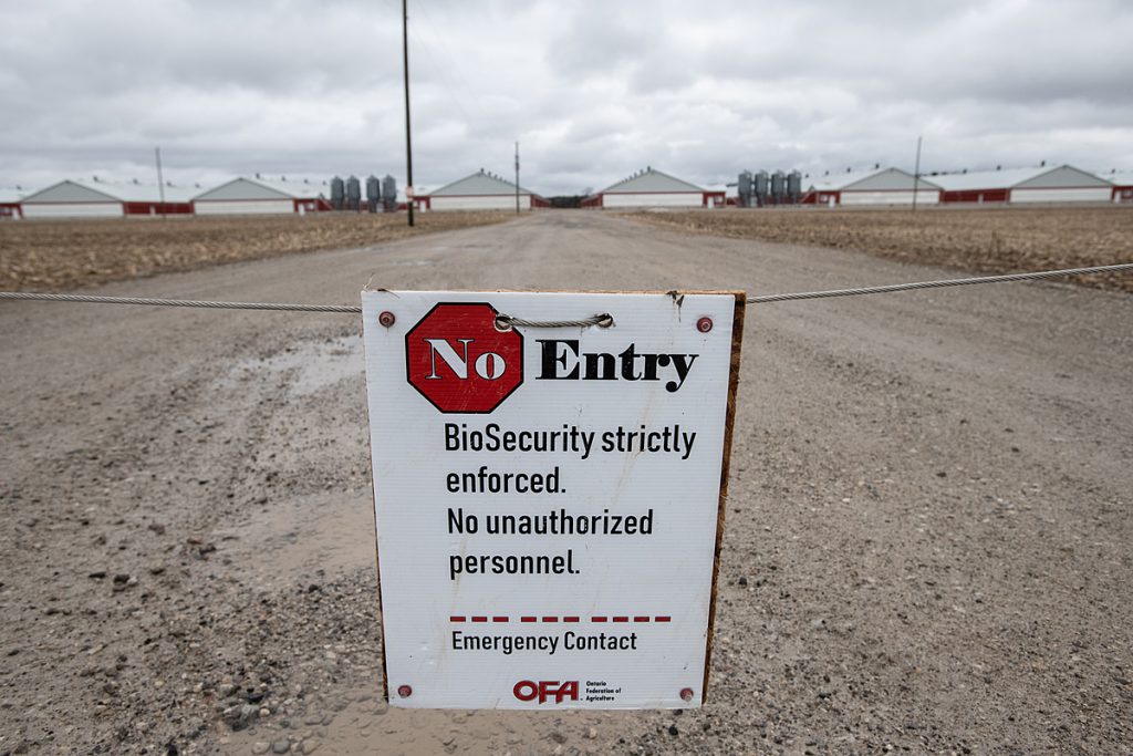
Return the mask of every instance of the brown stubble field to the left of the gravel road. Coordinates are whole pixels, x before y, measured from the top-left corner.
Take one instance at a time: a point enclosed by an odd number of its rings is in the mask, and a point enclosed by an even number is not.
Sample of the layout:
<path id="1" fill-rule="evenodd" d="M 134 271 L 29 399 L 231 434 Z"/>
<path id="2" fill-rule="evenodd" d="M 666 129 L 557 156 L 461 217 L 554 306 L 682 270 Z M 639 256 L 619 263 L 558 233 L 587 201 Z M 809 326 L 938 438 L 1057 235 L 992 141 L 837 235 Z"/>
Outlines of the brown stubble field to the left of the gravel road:
<path id="1" fill-rule="evenodd" d="M 514 218 L 500 212 L 325 213 L 0 223 L 0 289 L 45 291 L 240 260 L 343 249 Z"/>

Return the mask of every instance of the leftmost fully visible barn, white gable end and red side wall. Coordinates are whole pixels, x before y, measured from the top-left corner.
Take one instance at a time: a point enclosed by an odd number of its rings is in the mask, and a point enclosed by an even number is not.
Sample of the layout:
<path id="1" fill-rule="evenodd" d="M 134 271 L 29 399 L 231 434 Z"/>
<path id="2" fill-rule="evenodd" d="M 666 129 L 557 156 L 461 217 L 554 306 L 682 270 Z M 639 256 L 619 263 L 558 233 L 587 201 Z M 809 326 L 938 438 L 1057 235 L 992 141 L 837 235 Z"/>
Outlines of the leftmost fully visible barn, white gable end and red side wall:
<path id="1" fill-rule="evenodd" d="M 162 202 L 164 194 L 164 202 Z M 184 215 L 193 212 L 191 192 L 184 187 L 107 181 L 60 181 L 25 196 L 24 218 L 122 218 Z"/>

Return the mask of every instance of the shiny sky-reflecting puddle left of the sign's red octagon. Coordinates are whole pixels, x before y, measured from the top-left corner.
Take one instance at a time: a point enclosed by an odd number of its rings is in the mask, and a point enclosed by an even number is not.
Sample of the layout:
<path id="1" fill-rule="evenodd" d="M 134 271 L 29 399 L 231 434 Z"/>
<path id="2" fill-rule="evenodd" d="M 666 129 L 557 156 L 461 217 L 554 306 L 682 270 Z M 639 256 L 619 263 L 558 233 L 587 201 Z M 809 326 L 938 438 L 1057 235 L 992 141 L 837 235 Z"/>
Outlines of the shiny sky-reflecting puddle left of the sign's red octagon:
<path id="1" fill-rule="evenodd" d="M 307 397 L 340 381 L 360 377 L 365 369 L 361 335 L 350 335 L 300 342 L 266 358 L 240 359 L 218 380 L 218 388 L 239 389 L 265 373 L 290 373 L 291 393 Z"/>

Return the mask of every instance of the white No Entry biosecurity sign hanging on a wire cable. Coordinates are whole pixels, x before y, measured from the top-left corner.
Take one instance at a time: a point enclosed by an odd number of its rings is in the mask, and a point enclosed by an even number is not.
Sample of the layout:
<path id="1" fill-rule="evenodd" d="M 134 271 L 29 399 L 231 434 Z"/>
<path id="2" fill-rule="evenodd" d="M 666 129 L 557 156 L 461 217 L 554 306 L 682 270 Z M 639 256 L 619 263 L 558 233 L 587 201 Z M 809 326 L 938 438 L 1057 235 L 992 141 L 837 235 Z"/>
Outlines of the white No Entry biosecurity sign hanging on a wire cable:
<path id="1" fill-rule="evenodd" d="M 702 703 L 743 300 L 363 292 L 393 705 Z"/>

